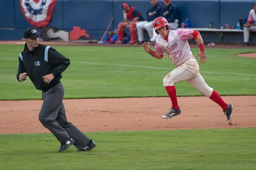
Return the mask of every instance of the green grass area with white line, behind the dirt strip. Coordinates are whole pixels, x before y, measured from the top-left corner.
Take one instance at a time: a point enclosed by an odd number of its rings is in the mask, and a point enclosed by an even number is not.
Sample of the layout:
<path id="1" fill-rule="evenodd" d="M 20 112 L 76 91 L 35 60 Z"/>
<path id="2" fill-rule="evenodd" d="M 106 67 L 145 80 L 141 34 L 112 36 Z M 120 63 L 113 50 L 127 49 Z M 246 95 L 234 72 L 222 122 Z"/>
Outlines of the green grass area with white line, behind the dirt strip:
<path id="1" fill-rule="evenodd" d="M 62 78 L 66 99 L 167 96 L 162 79 L 175 67 L 166 54 L 157 60 L 141 47 L 54 48 L 71 61 Z M 0 45 L 0 100 L 41 99 L 29 79 L 16 79 L 22 49 L 21 45 Z M 207 49 L 208 60 L 200 64 L 200 73 L 220 95 L 256 95 L 256 58 L 235 56 L 244 52 L 256 50 Z M 175 86 L 177 96 L 201 95 L 186 81 Z"/>

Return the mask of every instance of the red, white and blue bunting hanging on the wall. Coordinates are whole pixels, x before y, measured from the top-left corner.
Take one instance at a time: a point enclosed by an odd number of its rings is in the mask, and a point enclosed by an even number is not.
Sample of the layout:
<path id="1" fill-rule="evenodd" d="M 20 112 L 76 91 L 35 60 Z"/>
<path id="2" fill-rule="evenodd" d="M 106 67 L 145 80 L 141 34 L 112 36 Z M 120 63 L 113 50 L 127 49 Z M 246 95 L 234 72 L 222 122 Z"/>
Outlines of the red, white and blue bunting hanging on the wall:
<path id="1" fill-rule="evenodd" d="M 49 25 L 57 0 L 19 0 L 25 19 L 36 28 Z"/>

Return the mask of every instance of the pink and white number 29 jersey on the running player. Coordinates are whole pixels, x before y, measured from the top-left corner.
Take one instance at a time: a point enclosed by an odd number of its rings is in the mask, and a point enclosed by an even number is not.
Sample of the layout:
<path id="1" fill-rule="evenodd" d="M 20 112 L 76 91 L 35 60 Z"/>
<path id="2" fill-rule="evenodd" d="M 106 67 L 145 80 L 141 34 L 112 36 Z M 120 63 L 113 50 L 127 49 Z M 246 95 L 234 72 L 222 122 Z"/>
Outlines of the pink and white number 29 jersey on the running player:
<path id="1" fill-rule="evenodd" d="M 170 30 L 168 42 L 159 35 L 156 38 L 156 52 L 160 55 L 166 52 L 175 66 L 181 65 L 193 56 L 188 45 L 188 39 L 193 38 L 193 32 L 192 29 Z"/>

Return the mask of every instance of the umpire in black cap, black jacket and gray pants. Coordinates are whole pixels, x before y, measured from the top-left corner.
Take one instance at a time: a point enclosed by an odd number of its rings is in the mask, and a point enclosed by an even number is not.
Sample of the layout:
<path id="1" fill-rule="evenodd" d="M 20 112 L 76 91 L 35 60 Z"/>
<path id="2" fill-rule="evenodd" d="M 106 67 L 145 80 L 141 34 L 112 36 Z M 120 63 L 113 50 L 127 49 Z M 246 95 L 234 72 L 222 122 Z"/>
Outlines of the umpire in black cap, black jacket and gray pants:
<path id="1" fill-rule="evenodd" d="M 76 126 L 67 121 L 62 102 L 64 87 L 60 83 L 61 73 L 70 61 L 50 46 L 39 44 L 36 29 L 24 31 L 24 50 L 19 54 L 18 81 L 29 76 L 36 89 L 42 91 L 43 104 L 39 120 L 60 141 L 59 152 L 72 144 L 79 150 L 90 151 L 96 144 L 86 137 Z"/>

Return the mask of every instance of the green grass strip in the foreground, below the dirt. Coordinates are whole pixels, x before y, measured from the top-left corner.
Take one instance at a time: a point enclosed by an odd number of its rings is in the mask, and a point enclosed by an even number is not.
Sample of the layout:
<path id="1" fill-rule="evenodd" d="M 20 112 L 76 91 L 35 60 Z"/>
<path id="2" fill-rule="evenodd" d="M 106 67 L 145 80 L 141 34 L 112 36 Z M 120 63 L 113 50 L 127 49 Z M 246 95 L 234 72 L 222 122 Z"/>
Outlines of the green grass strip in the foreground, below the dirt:
<path id="1" fill-rule="evenodd" d="M 0 135 L 0 169 L 256 169 L 256 128 L 87 133 L 96 147 L 58 153 L 50 133 Z"/>

